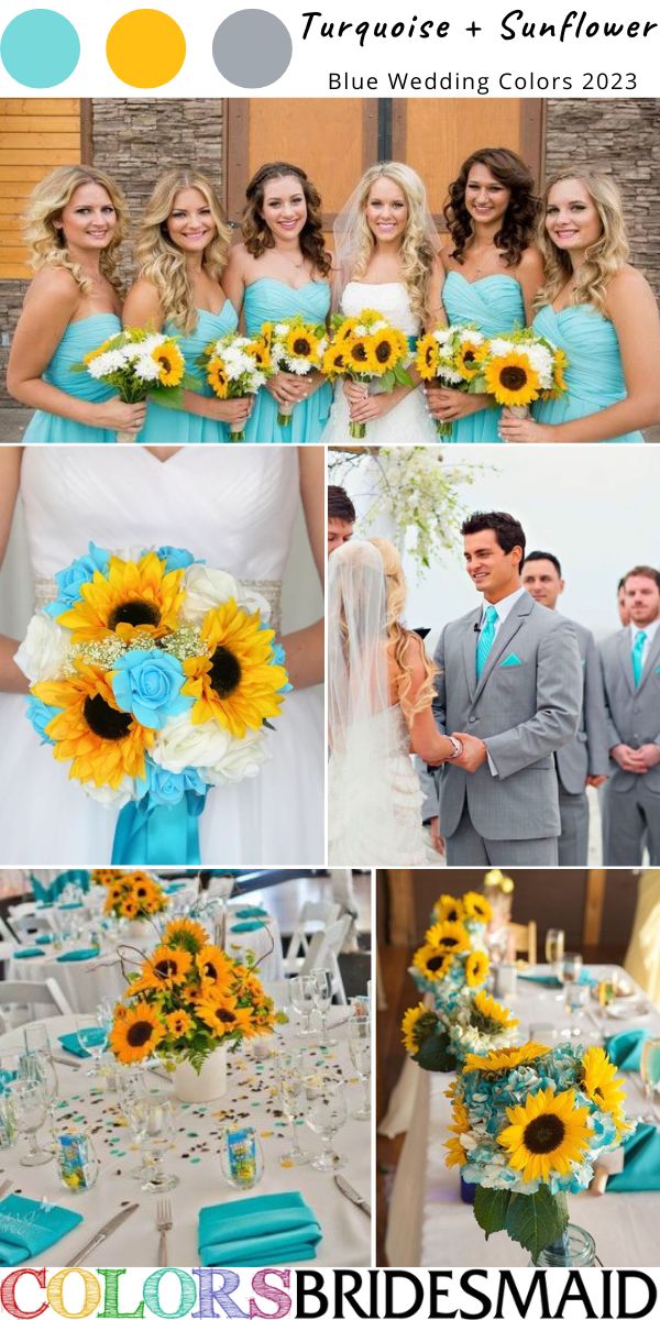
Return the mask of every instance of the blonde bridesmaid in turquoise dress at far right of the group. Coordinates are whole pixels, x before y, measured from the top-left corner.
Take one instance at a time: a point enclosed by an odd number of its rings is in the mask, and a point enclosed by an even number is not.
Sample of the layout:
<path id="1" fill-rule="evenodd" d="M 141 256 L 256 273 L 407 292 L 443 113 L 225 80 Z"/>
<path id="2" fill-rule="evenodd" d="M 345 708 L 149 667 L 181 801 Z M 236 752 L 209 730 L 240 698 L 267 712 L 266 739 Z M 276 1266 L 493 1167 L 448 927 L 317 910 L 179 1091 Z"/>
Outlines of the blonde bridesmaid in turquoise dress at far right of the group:
<path id="1" fill-rule="evenodd" d="M 643 444 L 660 422 L 660 315 L 627 264 L 616 186 L 601 174 L 550 180 L 540 220 L 545 281 L 533 326 L 566 355 L 566 391 L 504 416 L 508 444 Z"/>

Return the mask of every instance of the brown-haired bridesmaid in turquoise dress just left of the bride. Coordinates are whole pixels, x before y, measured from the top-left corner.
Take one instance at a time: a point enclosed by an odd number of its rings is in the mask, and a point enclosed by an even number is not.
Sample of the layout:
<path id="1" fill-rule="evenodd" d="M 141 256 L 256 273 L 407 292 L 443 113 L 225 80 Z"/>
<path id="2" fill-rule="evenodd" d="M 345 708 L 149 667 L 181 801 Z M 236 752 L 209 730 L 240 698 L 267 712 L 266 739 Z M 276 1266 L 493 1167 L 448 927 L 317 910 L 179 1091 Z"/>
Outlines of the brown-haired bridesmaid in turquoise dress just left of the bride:
<path id="1" fill-rule="evenodd" d="M 325 249 L 321 198 L 297 165 L 263 165 L 247 187 L 243 243 L 230 252 L 223 289 L 242 310 L 246 333 L 300 315 L 325 323 L 330 313 L 331 259 Z M 325 430 L 333 392 L 318 371 L 277 372 L 261 387 L 246 438 L 259 445 L 313 445 Z M 286 426 L 277 413 L 290 411 Z"/>

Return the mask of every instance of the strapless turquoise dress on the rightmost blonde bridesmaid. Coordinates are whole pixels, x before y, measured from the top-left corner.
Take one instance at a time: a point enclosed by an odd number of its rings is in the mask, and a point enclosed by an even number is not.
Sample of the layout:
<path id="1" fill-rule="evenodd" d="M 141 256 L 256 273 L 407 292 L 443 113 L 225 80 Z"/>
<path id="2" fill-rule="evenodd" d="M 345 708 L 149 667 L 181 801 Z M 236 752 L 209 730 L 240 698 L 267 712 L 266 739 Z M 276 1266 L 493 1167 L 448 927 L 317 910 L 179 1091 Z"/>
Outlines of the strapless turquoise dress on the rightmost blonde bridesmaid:
<path id="1" fill-rule="evenodd" d="M 560 399 L 540 399 L 532 404 L 535 421 L 558 426 L 562 421 L 602 412 L 627 397 L 616 330 L 595 308 L 582 302 L 562 312 L 541 308 L 533 329 L 557 348 L 564 348 L 568 358 L 566 392 Z M 640 430 L 631 430 L 627 436 L 612 436 L 609 444 L 643 445 L 644 437 Z"/>

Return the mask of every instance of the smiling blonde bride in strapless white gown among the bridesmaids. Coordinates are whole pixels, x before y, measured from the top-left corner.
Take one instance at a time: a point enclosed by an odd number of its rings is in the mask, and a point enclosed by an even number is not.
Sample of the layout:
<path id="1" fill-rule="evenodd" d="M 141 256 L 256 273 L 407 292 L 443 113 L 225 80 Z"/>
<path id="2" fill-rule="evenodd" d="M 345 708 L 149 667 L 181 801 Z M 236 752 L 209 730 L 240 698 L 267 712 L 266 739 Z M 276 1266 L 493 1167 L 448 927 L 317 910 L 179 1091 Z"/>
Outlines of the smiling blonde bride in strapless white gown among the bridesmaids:
<path id="1" fill-rule="evenodd" d="M 338 216 L 334 236 L 339 310 L 347 317 L 367 308 L 381 312 L 408 337 L 412 356 L 420 333 L 445 323 L 440 244 L 418 174 L 397 161 L 372 165 Z M 370 445 L 428 445 L 438 438 L 417 380 L 391 393 L 339 381 L 323 442 L 348 441 L 351 421 L 368 424 Z"/>

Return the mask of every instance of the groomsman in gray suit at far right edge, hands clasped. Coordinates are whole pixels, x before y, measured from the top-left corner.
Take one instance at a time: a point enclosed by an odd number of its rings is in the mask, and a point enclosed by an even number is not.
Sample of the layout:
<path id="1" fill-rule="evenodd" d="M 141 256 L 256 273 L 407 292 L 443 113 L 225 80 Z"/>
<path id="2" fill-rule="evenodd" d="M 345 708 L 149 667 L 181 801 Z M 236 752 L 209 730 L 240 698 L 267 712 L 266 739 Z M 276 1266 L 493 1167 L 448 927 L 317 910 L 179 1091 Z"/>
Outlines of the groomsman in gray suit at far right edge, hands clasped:
<path id="1" fill-rule="evenodd" d="M 660 573 L 626 574 L 630 624 L 601 647 L 611 779 L 603 800 L 606 866 L 660 866 Z"/>

